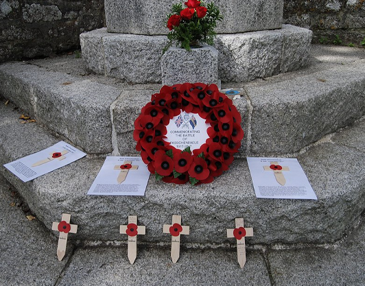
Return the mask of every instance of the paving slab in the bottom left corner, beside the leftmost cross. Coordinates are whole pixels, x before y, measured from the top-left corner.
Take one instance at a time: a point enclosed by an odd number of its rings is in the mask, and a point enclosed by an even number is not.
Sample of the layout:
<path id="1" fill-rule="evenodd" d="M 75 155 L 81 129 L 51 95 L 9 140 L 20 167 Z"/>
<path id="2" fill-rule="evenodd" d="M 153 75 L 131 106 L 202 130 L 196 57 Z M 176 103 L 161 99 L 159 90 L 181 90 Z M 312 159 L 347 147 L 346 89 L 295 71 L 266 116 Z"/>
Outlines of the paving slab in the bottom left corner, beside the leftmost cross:
<path id="1" fill-rule="evenodd" d="M 0 176 L 0 285 L 55 285 L 72 246 L 63 261 L 58 261 L 56 239 L 38 219 L 28 220 L 19 202 Z"/>

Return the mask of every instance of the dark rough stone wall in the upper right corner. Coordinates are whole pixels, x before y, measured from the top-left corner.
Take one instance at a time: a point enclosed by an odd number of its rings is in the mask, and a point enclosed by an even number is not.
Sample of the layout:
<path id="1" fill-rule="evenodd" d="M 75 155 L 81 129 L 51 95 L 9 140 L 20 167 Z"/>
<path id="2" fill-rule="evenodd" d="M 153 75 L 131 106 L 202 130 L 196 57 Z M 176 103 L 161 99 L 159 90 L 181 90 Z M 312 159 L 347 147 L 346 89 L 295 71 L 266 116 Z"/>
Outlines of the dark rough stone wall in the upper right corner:
<path id="1" fill-rule="evenodd" d="M 365 0 L 285 0 L 283 22 L 311 29 L 313 43 L 361 46 Z"/>

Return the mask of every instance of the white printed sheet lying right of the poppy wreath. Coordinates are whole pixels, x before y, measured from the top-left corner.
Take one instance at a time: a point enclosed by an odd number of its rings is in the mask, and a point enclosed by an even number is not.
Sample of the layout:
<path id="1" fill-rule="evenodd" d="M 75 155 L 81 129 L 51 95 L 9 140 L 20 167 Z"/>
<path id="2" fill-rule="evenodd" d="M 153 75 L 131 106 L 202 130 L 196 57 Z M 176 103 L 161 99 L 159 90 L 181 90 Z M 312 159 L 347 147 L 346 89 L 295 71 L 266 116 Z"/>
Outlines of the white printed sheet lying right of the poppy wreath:
<path id="1" fill-rule="evenodd" d="M 247 158 L 257 198 L 317 200 L 301 165 L 296 158 Z M 285 180 L 278 182 L 270 165 L 277 162 Z M 274 166 L 272 167 L 274 168 Z M 279 172 L 279 173 L 280 173 Z M 278 176 L 281 176 L 280 174 Z"/>

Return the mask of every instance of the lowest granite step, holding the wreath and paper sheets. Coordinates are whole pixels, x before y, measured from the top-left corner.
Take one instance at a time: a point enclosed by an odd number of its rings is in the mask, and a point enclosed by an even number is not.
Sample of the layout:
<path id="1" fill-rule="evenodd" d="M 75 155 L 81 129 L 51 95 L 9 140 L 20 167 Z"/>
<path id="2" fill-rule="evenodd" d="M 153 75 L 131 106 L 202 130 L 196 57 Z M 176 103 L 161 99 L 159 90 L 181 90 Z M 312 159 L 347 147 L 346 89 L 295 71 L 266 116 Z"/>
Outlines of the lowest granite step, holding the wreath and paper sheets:
<path id="1" fill-rule="evenodd" d="M 104 158 L 87 156 L 30 182 L 21 182 L 2 165 L 43 150 L 64 139 L 37 123 L 21 124 L 19 110 L 0 104 L 1 174 L 23 196 L 49 230 L 62 213 L 78 224 L 75 239 L 121 240 L 119 224 L 138 215 L 148 229 L 145 243 L 169 242 L 163 224 L 173 214 L 183 217 L 191 234 L 183 243 L 197 247 L 229 247 L 226 228 L 244 217 L 255 236 L 249 245 L 271 243 L 328 243 L 341 239 L 359 221 L 365 206 L 365 120 L 340 130 L 298 156 L 318 200 L 257 199 L 246 160 L 211 184 L 196 187 L 156 182 L 150 178 L 144 196 L 86 195 Z"/>

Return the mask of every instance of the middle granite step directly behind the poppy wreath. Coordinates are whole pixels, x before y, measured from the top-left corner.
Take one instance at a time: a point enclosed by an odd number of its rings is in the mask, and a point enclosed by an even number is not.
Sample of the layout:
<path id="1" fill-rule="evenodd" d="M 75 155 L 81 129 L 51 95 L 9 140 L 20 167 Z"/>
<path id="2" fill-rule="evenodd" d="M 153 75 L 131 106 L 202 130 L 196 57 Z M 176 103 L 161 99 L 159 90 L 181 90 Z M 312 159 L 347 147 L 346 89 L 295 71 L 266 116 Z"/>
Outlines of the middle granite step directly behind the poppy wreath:
<path id="1" fill-rule="evenodd" d="M 364 115 L 364 49 L 326 49 L 314 46 L 307 69 L 222 86 L 242 93 L 237 158 L 297 154 Z M 133 122 L 159 88 L 88 73 L 70 57 L 0 65 L 0 95 L 88 154 L 138 154 Z"/>

